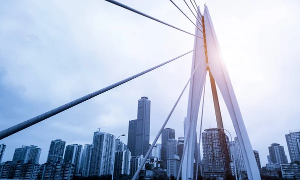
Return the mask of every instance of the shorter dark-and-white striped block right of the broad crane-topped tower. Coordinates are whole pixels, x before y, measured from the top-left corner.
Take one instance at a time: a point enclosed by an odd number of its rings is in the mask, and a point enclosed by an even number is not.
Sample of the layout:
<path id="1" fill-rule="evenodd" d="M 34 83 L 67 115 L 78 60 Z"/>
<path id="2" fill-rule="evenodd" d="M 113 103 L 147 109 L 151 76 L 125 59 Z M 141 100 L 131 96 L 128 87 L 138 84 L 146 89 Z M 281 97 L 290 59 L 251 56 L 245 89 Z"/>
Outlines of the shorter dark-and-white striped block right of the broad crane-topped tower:
<path id="1" fill-rule="evenodd" d="M 119 175 L 129 175 L 130 172 L 131 153 L 128 149 L 124 151 L 116 151 L 114 155 L 113 177 Z"/>

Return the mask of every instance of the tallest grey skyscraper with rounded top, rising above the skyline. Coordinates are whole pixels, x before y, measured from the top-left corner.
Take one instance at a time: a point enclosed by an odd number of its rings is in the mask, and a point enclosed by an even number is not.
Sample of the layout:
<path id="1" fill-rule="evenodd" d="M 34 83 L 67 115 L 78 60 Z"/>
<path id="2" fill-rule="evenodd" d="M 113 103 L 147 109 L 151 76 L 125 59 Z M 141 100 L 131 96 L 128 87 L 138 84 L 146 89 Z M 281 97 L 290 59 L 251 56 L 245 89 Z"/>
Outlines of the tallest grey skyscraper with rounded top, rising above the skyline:
<path id="1" fill-rule="evenodd" d="M 150 143 L 150 103 L 147 97 L 141 97 L 137 105 L 135 156 L 145 156 Z"/>

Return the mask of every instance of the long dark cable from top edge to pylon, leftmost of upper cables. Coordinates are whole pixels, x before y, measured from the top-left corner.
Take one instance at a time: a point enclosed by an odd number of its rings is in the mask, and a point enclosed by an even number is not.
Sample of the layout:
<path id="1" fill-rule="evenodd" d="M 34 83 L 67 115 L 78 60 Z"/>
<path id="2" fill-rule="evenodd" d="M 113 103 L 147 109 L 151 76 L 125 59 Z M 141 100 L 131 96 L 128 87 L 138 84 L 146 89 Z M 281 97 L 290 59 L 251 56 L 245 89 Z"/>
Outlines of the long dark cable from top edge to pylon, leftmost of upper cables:
<path id="1" fill-rule="evenodd" d="M 137 13 L 137 14 L 139 14 L 139 15 L 145 16 L 145 17 L 147 17 L 147 18 L 149 18 L 149 19 L 152 19 L 152 20 L 155 20 L 155 21 L 157 21 L 157 22 L 160 22 L 160 23 L 162 23 L 162 24 L 164 24 L 164 25 L 167 25 L 167 26 L 169 26 L 169 27 L 175 28 L 175 29 L 177 29 L 177 30 L 180 30 L 180 31 L 185 32 L 185 33 L 187 33 L 187 34 L 190 34 L 190 35 L 192 35 L 192 36 L 195 36 L 195 37 L 198 37 L 198 38 L 203 39 L 203 37 L 194 35 L 194 34 L 192 34 L 192 33 L 190 33 L 190 32 L 187 32 L 187 31 L 182 30 L 182 29 L 180 29 L 180 28 L 178 28 L 178 27 L 175 27 L 175 26 L 173 26 L 173 25 L 171 25 L 171 24 L 169 24 L 169 23 L 163 22 L 162 20 L 159 20 L 159 19 L 157 19 L 157 18 L 155 18 L 155 17 L 152 17 L 152 16 L 150 16 L 150 15 L 148 15 L 148 14 L 145 14 L 145 13 L 143 13 L 143 12 L 141 12 L 141 11 L 138 11 L 138 10 L 136 10 L 136 9 L 134 9 L 134 8 L 132 8 L 132 7 L 129 7 L 129 6 L 125 5 L 125 4 L 122 4 L 122 3 L 118 2 L 118 1 L 115 1 L 115 0 L 106 0 L 106 1 L 107 1 L 107 2 L 110 2 L 110 3 L 113 3 L 113 4 L 115 4 L 115 5 L 118 5 L 118 6 L 120 6 L 120 7 L 123 7 L 123 8 L 125 8 L 125 9 L 127 9 L 127 10 L 132 11 L 132 12 L 135 12 L 135 13 Z"/>

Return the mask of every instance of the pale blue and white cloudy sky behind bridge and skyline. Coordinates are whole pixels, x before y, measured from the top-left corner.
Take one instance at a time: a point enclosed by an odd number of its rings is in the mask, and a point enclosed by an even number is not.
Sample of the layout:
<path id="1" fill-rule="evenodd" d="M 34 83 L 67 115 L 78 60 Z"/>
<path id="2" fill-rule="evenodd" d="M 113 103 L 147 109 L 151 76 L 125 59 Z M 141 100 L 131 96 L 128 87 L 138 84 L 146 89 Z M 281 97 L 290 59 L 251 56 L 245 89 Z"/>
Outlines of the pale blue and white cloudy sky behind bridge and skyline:
<path id="1" fill-rule="evenodd" d="M 120 2 L 194 33 L 194 25 L 168 0 Z M 175 3 L 193 20 L 181 0 Z M 300 129 L 300 1 L 196 0 L 209 8 L 253 150 L 267 163 L 268 146 L 284 147 L 289 130 Z M 193 48 L 194 37 L 104 0 L 0 1 L 0 130 L 113 84 Z M 11 135 L 2 161 L 15 148 L 49 144 L 91 144 L 98 127 L 127 134 L 137 101 L 151 100 L 150 142 L 190 74 L 192 54 L 105 92 Z M 207 79 L 208 80 L 208 79 Z M 168 128 L 183 136 L 188 90 Z M 211 90 L 206 88 L 203 128 L 215 128 Z M 234 128 L 219 94 L 224 128 Z M 199 132 L 199 127 L 197 127 Z M 199 133 L 197 133 L 199 135 Z M 230 137 L 229 137 L 230 138 Z M 121 137 L 127 143 L 127 137 Z M 160 139 L 158 140 L 160 142 Z"/>

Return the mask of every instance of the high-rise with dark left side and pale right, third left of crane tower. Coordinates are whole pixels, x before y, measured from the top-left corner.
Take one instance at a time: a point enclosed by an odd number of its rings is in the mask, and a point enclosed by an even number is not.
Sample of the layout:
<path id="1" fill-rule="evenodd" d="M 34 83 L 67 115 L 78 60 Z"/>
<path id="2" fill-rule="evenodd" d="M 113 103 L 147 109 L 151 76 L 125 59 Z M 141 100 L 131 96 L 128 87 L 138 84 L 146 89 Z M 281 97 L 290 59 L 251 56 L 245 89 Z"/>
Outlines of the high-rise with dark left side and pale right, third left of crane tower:
<path id="1" fill-rule="evenodd" d="M 82 145 L 67 145 L 65 147 L 65 153 L 63 162 L 64 163 L 70 163 L 74 165 L 74 173 L 79 173 L 80 170 L 80 163 L 81 163 L 81 157 L 82 157 Z"/>

